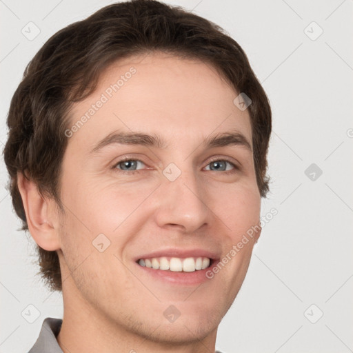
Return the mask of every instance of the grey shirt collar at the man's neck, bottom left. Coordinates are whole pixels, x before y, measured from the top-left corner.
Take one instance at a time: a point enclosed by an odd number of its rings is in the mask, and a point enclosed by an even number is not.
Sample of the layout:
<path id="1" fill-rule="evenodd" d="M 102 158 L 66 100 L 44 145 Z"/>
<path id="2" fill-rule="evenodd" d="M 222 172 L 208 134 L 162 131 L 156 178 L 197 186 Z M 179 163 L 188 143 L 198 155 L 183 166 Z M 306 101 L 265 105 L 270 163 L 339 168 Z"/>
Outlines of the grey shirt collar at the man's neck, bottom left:
<path id="1" fill-rule="evenodd" d="M 63 353 L 57 342 L 62 323 L 62 319 L 44 319 L 38 339 L 28 353 Z"/>

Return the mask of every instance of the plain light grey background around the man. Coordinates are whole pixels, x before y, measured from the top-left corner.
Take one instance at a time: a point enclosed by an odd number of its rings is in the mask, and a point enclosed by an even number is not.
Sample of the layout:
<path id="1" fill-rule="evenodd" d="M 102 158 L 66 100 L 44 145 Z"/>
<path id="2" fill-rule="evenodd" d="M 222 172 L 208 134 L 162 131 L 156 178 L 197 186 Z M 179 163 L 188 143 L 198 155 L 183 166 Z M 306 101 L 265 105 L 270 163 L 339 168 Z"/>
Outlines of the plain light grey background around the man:
<path id="1" fill-rule="evenodd" d="M 194 9 L 239 42 L 273 110 L 271 193 L 262 214 L 278 214 L 263 228 L 216 346 L 228 353 L 353 352 L 353 1 L 166 2 Z M 109 3 L 0 1 L 1 150 L 10 99 L 28 61 L 54 32 Z M 32 41 L 21 33 L 30 21 L 41 31 Z M 315 40 L 312 21 L 323 30 Z M 312 163 L 323 171 L 314 181 L 305 174 Z M 2 160 L 0 177 L 5 185 Z M 17 231 L 3 186 L 0 200 L 0 352 L 27 352 L 43 319 L 62 317 L 62 297 L 35 277 L 34 242 Z M 34 323 L 21 316 L 28 305 L 40 312 Z"/>

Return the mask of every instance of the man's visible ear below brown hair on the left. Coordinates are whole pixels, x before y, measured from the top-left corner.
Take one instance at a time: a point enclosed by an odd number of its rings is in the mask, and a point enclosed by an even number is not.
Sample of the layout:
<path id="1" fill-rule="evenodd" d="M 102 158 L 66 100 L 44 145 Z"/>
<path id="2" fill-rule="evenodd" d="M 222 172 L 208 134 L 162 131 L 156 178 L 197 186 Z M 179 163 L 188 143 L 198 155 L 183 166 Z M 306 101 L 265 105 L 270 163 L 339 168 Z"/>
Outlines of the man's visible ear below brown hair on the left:
<path id="1" fill-rule="evenodd" d="M 53 207 L 54 201 L 44 199 L 39 193 L 37 184 L 26 179 L 21 172 L 17 172 L 17 185 L 21 194 L 23 207 L 26 212 L 28 230 L 34 241 L 44 250 L 61 249 L 58 234 L 58 214 Z"/>

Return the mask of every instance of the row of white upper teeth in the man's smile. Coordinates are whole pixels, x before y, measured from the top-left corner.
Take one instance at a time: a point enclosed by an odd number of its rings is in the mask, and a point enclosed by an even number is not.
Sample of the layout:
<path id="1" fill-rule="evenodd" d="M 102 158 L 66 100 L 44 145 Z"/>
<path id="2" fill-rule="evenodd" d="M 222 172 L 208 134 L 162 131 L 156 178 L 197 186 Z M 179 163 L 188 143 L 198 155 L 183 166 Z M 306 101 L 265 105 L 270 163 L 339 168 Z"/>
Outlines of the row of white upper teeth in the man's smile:
<path id="1" fill-rule="evenodd" d="M 194 272 L 195 270 L 203 270 L 210 265 L 208 257 L 187 257 L 179 259 L 172 257 L 168 260 L 167 257 L 153 257 L 152 259 L 140 259 L 139 265 L 153 268 L 154 270 L 170 270 L 173 272 L 184 271 Z"/>

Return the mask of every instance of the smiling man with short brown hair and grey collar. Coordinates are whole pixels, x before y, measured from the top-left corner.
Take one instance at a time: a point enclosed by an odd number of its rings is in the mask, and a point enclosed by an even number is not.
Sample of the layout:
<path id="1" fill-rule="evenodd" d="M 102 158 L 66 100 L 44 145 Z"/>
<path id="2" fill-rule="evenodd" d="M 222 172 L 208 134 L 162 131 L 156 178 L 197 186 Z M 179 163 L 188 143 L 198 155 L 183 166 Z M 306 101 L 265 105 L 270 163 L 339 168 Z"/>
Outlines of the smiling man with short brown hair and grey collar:
<path id="1" fill-rule="evenodd" d="M 107 6 L 39 50 L 8 127 L 14 208 L 63 293 L 30 352 L 214 352 L 268 192 L 271 110 L 239 44 Z"/>

